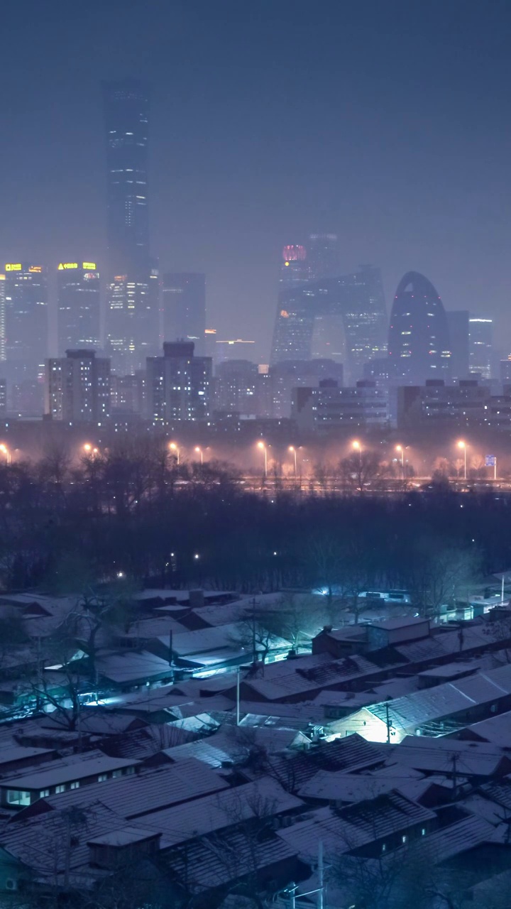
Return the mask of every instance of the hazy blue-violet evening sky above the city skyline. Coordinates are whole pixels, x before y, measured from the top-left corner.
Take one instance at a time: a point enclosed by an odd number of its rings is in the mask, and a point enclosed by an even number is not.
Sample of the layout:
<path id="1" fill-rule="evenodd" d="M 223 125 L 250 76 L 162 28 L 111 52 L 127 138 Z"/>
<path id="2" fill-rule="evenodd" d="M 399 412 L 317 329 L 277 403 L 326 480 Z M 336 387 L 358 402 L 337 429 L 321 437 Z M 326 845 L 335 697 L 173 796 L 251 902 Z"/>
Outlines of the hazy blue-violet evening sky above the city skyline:
<path id="1" fill-rule="evenodd" d="M 511 350 L 509 0 L 2 5 L 0 261 L 105 247 L 99 82 L 153 84 L 152 247 L 266 358 L 280 248 L 424 272 Z"/>

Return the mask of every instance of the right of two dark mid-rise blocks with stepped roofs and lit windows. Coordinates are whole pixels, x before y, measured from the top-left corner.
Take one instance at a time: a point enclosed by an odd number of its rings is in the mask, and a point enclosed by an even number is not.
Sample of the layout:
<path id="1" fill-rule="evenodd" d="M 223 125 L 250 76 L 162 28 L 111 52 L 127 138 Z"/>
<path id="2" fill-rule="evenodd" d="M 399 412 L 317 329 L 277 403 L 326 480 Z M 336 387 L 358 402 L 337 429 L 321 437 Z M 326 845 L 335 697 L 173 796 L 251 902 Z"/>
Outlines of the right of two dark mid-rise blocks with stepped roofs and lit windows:
<path id="1" fill-rule="evenodd" d="M 194 347 L 165 341 L 163 356 L 147 357 L 147 415 L 154 423 L 208 419 L 213 365 L 211 357 L 195 356 Z"/>

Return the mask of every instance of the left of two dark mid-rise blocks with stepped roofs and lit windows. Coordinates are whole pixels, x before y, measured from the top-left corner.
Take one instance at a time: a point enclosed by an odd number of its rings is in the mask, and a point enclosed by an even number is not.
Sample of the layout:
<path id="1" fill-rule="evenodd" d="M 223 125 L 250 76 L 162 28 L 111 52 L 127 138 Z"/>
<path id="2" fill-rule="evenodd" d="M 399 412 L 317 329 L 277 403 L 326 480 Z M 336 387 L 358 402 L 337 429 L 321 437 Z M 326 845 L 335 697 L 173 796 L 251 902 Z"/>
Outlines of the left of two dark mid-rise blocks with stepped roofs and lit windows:
<path id="1" fill-rule="evenodd" d="M 85 349 L 49 359 L 45 412 L 54 420 L 101 425 L 110 415 L 110 360 Z"/>

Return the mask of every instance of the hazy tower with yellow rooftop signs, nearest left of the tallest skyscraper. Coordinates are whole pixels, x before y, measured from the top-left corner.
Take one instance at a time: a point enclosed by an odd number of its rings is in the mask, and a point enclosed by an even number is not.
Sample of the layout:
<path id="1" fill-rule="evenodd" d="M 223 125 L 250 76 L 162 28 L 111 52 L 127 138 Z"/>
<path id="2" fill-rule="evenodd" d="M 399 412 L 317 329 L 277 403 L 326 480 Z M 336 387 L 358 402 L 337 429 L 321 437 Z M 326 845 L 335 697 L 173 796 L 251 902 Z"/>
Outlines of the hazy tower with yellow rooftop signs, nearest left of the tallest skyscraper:
<path id="1" fill-rule="evenodd" d="M 57 266 L 58 353 L 99 346 L 99 272 L 95 262 Z"/>

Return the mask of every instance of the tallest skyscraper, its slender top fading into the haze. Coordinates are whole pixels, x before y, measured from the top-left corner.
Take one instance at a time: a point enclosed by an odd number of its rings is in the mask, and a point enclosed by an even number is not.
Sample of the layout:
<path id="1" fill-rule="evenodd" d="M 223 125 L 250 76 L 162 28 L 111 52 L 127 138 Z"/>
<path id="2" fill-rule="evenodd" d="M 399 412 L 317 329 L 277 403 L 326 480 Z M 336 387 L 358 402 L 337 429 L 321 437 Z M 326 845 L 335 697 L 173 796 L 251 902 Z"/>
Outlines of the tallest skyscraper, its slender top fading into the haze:
<path id="1" fill-rule="evenodd" d="M 107 160 L 106 345 L 115 372 L 134 373 L 155 350 L 158 309 L 149 254 L 149 95 L 135 80 L 103 85 Z M 156 281 L 157 284 L 157 281 Z"/>

